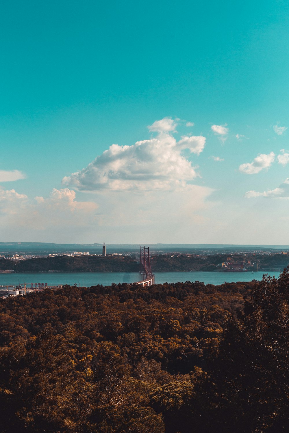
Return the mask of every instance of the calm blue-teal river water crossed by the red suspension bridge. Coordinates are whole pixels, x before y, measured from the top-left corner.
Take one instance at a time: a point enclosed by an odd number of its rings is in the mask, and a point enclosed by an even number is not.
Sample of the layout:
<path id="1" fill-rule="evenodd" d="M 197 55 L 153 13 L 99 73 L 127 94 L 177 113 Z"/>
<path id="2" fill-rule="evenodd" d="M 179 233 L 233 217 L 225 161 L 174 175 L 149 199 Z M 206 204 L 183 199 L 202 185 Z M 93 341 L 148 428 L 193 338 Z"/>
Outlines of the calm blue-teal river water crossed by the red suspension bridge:
<path id="1" fill-rule="evenodd" d="M 279 272 L 271 272 L 270 275 L 278 277 Z M 156 284 L 177 283 L 178 281 L 202 281 L 205 284 L 222 284 L 225 281 L 251 281 L 261 280 L 263 272 L 156 272 Z M 43 273 L 21 273 L 0 274 L 0 285 L 18 285 L 20 283 L 48 283 L 48 285 L 77 284 L 81 286 L 94 286 L 96 284 L 110 285 L 111 283 L 133 283 L 140 281 L 138 272 L 43 272 Z"/>

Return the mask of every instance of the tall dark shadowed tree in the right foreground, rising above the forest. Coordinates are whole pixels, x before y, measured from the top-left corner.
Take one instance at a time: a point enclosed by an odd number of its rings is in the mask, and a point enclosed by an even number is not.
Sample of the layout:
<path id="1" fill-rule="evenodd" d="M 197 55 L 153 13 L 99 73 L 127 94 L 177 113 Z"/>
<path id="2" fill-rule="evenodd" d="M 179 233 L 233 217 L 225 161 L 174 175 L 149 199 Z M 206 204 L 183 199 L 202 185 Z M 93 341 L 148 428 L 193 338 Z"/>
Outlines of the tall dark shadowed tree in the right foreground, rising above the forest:
<path id="1" fill-rule="evenodd" d="M 202 390 L 210 402 L 203 431 L 288 431 L 288 289 L 289 268 L 279 279 L 264 276 L 244 314 L 229 320 Z"/>

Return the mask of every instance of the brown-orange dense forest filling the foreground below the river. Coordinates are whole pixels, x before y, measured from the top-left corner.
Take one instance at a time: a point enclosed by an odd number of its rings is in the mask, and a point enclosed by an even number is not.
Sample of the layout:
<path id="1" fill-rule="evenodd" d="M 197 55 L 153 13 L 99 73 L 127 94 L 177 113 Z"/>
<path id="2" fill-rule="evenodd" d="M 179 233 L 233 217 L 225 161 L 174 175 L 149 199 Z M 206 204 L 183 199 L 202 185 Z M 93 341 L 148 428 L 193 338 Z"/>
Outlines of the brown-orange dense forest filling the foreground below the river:
<path id="1" fill-rule="evenodd" d="M 288 311 L 288 268 L 261 282 L 7 298 L 1 431 L 288 431 Z"/>

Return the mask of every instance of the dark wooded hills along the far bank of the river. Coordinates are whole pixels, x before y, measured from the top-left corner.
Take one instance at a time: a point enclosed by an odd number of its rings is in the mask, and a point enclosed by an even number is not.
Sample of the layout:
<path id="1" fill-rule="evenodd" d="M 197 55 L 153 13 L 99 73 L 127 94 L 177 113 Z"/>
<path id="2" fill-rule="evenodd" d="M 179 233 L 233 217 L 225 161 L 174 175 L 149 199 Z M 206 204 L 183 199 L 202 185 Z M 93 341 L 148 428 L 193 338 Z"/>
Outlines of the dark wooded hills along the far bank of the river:
<path id="1" fill-rule="evenodd" d="M 151 265 L 154 272 L 161 271 L 214 271 L 221 262 L 241 262 L 247 260 L 244 254 L 229 255 L 153 255 Z M 289 255 L 256 255 L 249 258 L 257 262 L 259 268 L 285 268 L 289 264 Z M 69 257 L 36 257 L 27 260 L 0 259 L 0 270 L 10 269 L 15 272 L 137 272 L 136 259 L 126 255 L 108 255 L 107 257 L 88 255 Z"/>

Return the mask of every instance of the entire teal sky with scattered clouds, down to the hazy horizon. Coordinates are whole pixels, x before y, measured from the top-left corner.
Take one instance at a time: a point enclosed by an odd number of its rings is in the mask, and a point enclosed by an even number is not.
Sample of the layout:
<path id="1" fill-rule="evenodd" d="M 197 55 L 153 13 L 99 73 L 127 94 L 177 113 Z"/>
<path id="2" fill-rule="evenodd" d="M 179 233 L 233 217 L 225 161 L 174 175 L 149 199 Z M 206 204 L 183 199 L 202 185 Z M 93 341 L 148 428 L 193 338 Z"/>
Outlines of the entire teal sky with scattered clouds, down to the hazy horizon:
<path id="1" fill-rule="evenodd" d="M 6 1 L 2 242 L 289 244 L 289 3 Z"/>

